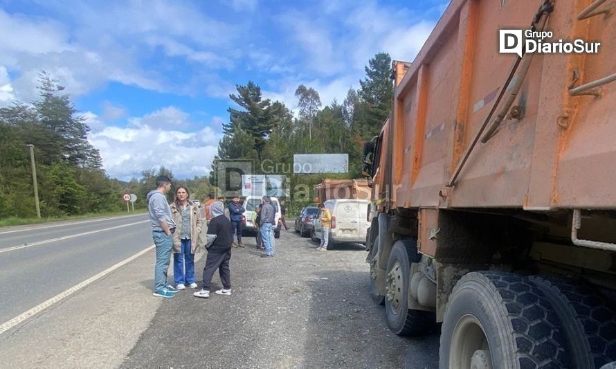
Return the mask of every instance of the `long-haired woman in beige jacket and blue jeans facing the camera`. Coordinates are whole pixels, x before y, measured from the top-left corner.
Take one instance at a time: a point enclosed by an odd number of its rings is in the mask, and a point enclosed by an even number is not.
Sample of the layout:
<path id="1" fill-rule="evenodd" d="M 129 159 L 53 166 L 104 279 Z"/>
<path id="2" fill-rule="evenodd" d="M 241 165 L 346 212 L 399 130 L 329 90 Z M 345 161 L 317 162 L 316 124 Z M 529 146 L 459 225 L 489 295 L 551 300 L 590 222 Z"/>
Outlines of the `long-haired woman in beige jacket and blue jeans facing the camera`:
<path id="1" fill-rule="evenodd" d="M 194 282 L 194 253 L 203 244 L 201 210 L 189 198 L 188 188 L 180 186 L 171 204 L 171 215 L 177 227 L 173 233 L 173 278 L 177 289 L 185 289 L 186 285 L 197 288 Z"/>

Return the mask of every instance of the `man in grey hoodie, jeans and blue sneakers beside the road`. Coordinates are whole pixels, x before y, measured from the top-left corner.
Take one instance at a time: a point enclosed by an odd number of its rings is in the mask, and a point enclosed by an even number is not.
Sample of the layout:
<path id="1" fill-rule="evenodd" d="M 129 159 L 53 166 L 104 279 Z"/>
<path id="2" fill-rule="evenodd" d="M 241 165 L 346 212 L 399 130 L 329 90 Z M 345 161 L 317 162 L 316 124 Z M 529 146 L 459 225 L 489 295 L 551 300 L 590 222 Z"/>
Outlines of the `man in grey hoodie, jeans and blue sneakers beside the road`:
<path id="1" fill-rule="evenodd" d="M 171 190 L 171 179 L 165 176 L 156 178 L 156 190 L 147 194 L 147 211 L 150 214 L 152 239 L 156 245 L 156 265 L 154 266 L 154 296 L 172 298 L 175 287 L 167 284 L 167 270 L 173 248 L 175 222 L 167 203 L 167 192 Z"/>

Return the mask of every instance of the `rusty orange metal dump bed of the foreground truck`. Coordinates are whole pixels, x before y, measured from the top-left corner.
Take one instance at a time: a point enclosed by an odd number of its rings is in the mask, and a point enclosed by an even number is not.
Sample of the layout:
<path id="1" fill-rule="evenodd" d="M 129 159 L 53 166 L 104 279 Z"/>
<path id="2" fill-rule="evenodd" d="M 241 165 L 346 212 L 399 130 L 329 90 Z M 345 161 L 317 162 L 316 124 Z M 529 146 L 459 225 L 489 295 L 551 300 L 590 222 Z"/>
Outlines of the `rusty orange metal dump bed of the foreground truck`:
<path id="1" fill-rule="evenodd" d="M 590 1 L 557 2 L 545 25 L 552 40 L 595 40 L 599 53 L 535 54 L 527 73 L 507 84 L 518 55 L 499 53 L 499 30 L 528 28 L 541 1 L 528 3 L 453 0 L 399 78 L 391 127 L 383 129 L 392 134 L 383 138 L 392 143 L 390 173 L 386 165 L 377 172 L 390 176 L 377 184 L 391 181 L 393 207 L 616 208 L 616 82 L 602 84 L 598 96 L 570 93 L 615 75 L 616 19 L 578 20 Z M 515 109 L 470 150 L 516 78 L 523 82 Z"/>

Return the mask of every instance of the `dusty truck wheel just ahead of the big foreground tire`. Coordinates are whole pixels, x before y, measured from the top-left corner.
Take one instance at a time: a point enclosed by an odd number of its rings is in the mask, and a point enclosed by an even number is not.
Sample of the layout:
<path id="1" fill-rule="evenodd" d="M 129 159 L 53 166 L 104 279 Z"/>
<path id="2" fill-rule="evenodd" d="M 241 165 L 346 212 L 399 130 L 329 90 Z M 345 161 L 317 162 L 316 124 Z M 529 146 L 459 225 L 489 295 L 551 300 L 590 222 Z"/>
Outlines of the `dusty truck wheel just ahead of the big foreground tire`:
<path id="1" fill-rule="evenodd" d="M 387 262 L 385 313 L 390 330 L 399 336 L 419 336 L 430 332 L 435 325 L 433 312 L 408 309 L 410 263 L 421 258 L 417 241 L 399 240 Z"/>

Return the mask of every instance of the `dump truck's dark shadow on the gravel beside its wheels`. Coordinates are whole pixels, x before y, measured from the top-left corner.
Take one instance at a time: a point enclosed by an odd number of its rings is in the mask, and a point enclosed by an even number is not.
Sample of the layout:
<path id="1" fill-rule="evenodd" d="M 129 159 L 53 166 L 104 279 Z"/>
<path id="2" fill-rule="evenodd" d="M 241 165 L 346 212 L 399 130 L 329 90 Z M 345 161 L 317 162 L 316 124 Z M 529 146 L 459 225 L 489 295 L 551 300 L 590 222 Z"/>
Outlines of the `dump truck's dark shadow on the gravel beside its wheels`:
<path id="1" fill-rule="evenodd" d="M 322 271 L 311 302 L 301 368 L 437 368 L 439 335 L 396 336 L 368 295 L 369 272 Z"/>

